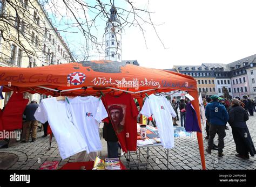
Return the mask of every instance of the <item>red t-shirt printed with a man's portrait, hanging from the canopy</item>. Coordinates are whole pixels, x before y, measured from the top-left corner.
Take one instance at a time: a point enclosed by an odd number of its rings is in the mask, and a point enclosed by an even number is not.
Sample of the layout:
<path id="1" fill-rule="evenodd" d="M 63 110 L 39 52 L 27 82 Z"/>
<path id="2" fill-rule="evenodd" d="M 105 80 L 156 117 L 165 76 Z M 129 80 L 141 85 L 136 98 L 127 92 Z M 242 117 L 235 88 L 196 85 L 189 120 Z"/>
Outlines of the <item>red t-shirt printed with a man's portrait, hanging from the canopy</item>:
<path id="1" fill-rule="evenodd" d="M 137 116 L 139 114 L 137 106 L 130 93 L 121 93 L 112 96 L 107 93 L 102 97 L 102 102 L 109 113 L 114 131 L 118 141 L 125 153 L 127 150 L 137 149 Z"/>

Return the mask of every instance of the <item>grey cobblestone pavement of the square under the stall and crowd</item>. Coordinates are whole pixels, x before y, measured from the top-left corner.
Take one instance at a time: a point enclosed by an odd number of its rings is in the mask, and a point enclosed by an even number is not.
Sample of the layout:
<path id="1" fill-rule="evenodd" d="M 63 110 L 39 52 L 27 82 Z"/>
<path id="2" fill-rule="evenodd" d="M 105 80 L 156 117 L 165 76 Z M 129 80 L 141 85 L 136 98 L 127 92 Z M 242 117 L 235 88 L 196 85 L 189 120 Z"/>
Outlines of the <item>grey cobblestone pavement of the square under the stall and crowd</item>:
<path id="1" fill-rule="evenodd" d="M 178 121 L 179 123 L 179 121 Z M 254 145 L 256 145 L 256 116 L 250 117 L 247 121 L 247 126 L 250 130 Z M 58 146 L 55 138 L 52 139 L 51 149 L 48 150 L 48 138 L 41 138 L 43 132 L 38 132 L 38 139 L 35 142 L 19 143 L 10 148 L 2 148 L 1 152 L 14 153 L 18 155 L 19 160 L 9 169 L 38 169 L 44 161 L 59 161 L 59 167 L 65 163 L 75 162 L 75 157 L 71 156 L 68 159 L 62 160 L 59 156 Z M 203 131 L 205 136 L 205 131 Z M 218 145 L 218 136 L 215 137 L 215 144 Z M 106 142 L 102 139 L 103 151 L 99 156 L 104 159 L 106 156 Z M 207 141 L 204 139 L 204 147 L 207 147 Z M 149 149 L 149 166 L 147 169 L 167 169 L 167 160 L 165 149 L 162 147 L 151 147 Z M 141 149 L 142 154 L 140 161 L 146 162 L 146 148 Z M 231 128 L 226 130 L 224 156 L 218 158 L 218 151 L 212 150 L 212 154 L 206 154 L 205 161 L 207 169 L 256 169 L 256 158 L 250 157 L 249 160 L 243 160 L 235 156 L 235 144 L 232 136 Z M 126 154 L 121 157 L 124 164 L 126 162 Z M 137 163 L 136 152 L 131 153 L 130 164 Z M 175 138 L 175 148 L 169 151 L 169 169 L 201 169 L 200 154 L 197 142 L 196 133 L 192 133 L 191 137 Z M 132 169 L 138 169 L 134 167 Z M 140 169 L 146 169 L 145 166 L 140 166 Z"/>

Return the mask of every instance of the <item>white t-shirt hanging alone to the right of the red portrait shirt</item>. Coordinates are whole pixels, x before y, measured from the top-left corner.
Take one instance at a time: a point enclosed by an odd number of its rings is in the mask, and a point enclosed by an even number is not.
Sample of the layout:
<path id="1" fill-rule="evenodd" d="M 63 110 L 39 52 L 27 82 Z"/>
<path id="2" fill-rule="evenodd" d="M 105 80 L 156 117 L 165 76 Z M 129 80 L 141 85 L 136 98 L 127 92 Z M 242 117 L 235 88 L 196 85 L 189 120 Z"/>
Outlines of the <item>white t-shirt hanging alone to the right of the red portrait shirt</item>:
<path id="1" fill-rule="evenodd" d="M 146 117 L 154 115 L 161 143 L 164 148 L 174 147 L 174 130 L 172 117 L 176 117 L 171 103 L 164 96 L 154 94 L 146 98 L 141 114 Z"/>

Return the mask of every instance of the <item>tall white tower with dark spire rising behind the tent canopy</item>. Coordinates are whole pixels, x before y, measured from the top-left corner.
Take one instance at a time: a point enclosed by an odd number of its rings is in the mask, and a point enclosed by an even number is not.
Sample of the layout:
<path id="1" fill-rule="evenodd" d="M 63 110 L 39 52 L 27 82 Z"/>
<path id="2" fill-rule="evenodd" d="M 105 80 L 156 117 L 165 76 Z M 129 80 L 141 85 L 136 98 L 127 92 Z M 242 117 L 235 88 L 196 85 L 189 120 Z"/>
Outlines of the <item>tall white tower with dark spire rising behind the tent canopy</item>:
<path id="1" fill-rule="evenodd" d="M 117 9 L 114 6 L 114 0 L 105 31 L 105 59 L 122 62 L 122 29 L 117 15 Z"/>

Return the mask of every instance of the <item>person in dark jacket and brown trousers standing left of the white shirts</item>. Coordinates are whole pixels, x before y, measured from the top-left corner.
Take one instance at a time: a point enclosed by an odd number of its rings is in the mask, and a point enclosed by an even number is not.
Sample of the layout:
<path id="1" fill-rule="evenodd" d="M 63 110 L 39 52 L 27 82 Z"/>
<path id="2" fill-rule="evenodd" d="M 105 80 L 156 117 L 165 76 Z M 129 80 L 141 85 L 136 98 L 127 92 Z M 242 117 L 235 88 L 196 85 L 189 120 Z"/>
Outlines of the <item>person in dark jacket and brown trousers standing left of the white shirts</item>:
<path id="1" fill-rule="evenodd" d="M 38 108 L 37 100 L 32 100 L 29 105 L 26 106 L 24 115 L 26 116 L 26 131 L 25 131 L 25 140 L 23 142 L 29 141 L 29 135 L 31 132 L 31 138 L 32 142 L 36 140 L 36 134 L 37 134 L 37 125 L 38 121 L 34 117 L 34 114 Z"/>

